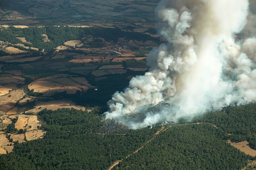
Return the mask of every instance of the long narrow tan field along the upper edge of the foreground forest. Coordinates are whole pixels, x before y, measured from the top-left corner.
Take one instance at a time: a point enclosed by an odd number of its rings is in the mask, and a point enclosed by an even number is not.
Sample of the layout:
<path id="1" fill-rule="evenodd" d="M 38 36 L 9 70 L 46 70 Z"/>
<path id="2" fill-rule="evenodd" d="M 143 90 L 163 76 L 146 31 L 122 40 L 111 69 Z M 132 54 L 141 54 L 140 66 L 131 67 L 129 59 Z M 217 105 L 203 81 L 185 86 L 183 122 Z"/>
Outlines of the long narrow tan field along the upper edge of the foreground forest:
<path id="1" fill-rule="evenodd" d="M 48 110 L 57 110 L 58 108 L 74 108 L 77 110 L 86 110 L 84 106 L 75 105 L 75 103 L 73 103 L 71 100 L 51 100 L 49 102 L 37 101 L 35 109 L 29 110 L 28 112 L 38 113 L 45 108 Z"/>

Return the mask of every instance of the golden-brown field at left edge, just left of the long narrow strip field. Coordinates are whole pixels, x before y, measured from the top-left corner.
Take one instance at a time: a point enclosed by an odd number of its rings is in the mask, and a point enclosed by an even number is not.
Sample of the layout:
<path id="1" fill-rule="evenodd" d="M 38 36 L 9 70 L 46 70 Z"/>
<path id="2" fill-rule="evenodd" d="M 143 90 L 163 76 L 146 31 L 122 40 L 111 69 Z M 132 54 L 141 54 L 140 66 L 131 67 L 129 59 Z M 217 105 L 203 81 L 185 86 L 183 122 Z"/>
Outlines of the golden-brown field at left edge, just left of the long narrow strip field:
<path id="1" fill-rule="evenodd" d="M 11 97 L 9 97 L 11 95 Z M 22 89 L 11 91 L 9 95 L 0 96 L 0 112 L 7 111 L 12 108 L 17 100 L 21 99 L 25 93 Z"/>

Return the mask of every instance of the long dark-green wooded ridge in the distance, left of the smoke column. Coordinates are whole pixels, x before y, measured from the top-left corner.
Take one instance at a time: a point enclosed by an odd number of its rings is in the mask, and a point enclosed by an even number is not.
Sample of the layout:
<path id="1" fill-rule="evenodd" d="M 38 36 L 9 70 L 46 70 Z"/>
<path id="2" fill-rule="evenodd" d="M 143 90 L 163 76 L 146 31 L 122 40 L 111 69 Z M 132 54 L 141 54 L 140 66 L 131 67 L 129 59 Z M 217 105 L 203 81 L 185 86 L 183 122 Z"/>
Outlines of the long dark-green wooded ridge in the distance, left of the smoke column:
<path id="1" fill-rule="evenodd" d="M 50 42 L 44 42 L 45 38 L 43 34 L 48 36 Z M 85 35 L 91 35 L 93 37 L 103 38 L 106 41 L 117 42 L 119 38 L 125 38 L 126 40 L 138 40 L 147 41 L 152 40 L 158 42 L 157 38 L 150 37 L 147 34 L 137 32 L 125 32 L 118 28 L 103 28 L 103 27 L 29 27 L 29 28 L 15 28 L 10 27 L 3 29 L 0 32 L 0 40 L 11 42 L 14 44 L 22 43 L 17 37 L 25 37 L 27 42 L 23 43 L 28 47 L 38 48 L 40 51 L 52 51 L 54 48 L 63 45 L 66 41 L 80 40 L 84 44 L 87 44 L 82 38 Z M 95 40 L 97 41 L 97 39 Z M 95 42 L 96 43 L 96 42 Z M 99 42 L 98 42 L 99 43 Z"/>

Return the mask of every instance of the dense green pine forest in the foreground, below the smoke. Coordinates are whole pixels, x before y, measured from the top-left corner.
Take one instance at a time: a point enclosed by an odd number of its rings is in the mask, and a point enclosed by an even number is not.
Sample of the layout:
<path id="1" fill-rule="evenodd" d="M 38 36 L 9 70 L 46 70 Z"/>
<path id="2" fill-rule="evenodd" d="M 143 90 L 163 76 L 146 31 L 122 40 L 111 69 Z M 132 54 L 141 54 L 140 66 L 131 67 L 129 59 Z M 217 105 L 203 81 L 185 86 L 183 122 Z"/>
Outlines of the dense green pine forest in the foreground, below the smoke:
<path id="1" fill-rule="evenodd" d="M 226 141 L 247 139 L 254 148 L 256 104 L 229 106 L 194 123 L 165 124 L 159 134 L 161 126 L 129 130 L 102 121 L 102 109 L 42 110 L 38 116 L 47 131 L 44 138 L 16 143 L 13 152 L 0 156 L 0 168 L 107 169 L 122 160 L 114 168 L 241 169 L 255 159 Z"/>

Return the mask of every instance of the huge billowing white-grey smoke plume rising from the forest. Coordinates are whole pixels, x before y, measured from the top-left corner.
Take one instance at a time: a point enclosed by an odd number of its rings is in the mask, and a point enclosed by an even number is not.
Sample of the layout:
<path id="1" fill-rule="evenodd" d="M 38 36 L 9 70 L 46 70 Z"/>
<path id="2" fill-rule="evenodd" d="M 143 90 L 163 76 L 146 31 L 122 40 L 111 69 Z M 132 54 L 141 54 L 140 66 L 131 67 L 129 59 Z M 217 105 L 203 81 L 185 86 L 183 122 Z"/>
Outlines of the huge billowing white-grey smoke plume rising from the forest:
<path id="1" fill-rule="evenodd" d="M 149 53 L 149 72 L 113 95 L 106 119 L 137 129 L 255 102 L 256 39 L 236 37 L 253 30 L 248 7 L 247 0 L 162 0 L 156 15 L 168 43 Z"/>

